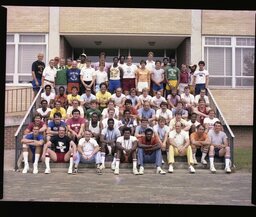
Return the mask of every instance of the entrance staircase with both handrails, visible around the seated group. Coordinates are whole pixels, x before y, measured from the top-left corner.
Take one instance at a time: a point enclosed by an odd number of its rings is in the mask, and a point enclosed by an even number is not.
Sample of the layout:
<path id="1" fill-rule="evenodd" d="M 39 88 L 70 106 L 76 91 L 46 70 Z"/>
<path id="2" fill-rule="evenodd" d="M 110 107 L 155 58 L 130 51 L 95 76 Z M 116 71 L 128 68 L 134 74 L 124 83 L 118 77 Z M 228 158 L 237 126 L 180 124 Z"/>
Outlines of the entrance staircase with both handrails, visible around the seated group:
<path id="1" fill-rule="evenodd" d="M 25 129 L 25 127 L 27 126 L 27 124 L 31 121 L 31 118 L 32 118 L 32 113 L 35 109 L 35 105 L 36 103 L 38 103 L 38 99 L 39 99 L 39 96 L 41 94 L 41 91 L 42 89 L 39 91 L 39 93 L 37 94 L 37 96 L 35 97 L 34 101 L 32 102 L 29 110 L 27 111 L 23 121 L 21 122 L 16 134 L 15 134 L 15 138 L 16 138 L 16 151 L 15 151 L 15 170 L 16 171 L 22 171 L 23 169 L 23 159 L 22 159 L 22 145 L 20 144 L 20 139 L 22 138 L 22 133 Z M 227 124 L 224 116 L 222 115 L 216 101 L 214 100 L 213 98 L 213 95 L 211 94 L 210 90 L 208 89 L 208 96 L 209 96 L 209 100 L 210 100 L 210 107 L 215 109 L 216 111 L 216 117 L 219 118 L 219 120 L 222 122 L 223 124 L 223 127 L 224 127 L 224 130 L 228 136 L 228 142 L 230 144 L 230 147 L 231 147 L 231 170 L 232 172 L 235 171 L 235 165 L 234 165 L 234 157 L 233 157 L 233 144 L 234 144 L 234 135 L 233 135 L 233 132 L 232 130 L 230 129 L 229 125 Z M 197 161 L 198 161 L 198 164 L 194 166 L 194 168 L 197 170 L 197 169 L 207 169 L 209 170 L 209 160 L 208 160 L 208 157 L 206 157 L 206 160 L 208 161 L 208 164 L 207 165 L 203 165 L 200 163 L 200 159 L 201 159 L 201 156 L 200 156 L 200 152 L 197 152 L 196 154 L 196 157 L 197 157 Z M 166 155 L 163 155 L 163 159 L 164 159 L 164 164 L 162 165 L 162 168 L 165 169 L 166 171 L 168 170 L 168 164 L 167 164 L 167 160 L 166 160 Z M 112 172 L 111 170 L 111 167 L 110 167 L 110 164 L 111 164 L 111 161 L 112 161 L 112 157 L 111 156 L 107 156 L 106 157 L 106 169 L 105 171 L 109 171 L 109 172 Z M 184 157 L 175 157 L 175 163 L 174 163 L 174 170 L 175 169 L 188 169 L 188 165 L 187 165 L 187 158 L 186 156 Z M 215 157 L 214 158 L 214 165 L 215 165 L 215 168 L 217 170 L 223 170 L 225 165 L 224 165 L 224 158 L 218 158 L 218 157 Z M 33 165 L 30 164 L 30 168 L 33 168 Z M 67 169 L 68 168 L 68 163 L 51 163 L 51 168 L 54 168 L 54 169 Z M 94 164 L 79 164 L 79 170 L 83 171 L 85 169 L 93 169 L 95 168 L 95 165 Z M 155 168 L 155 165 L 154 164 L 145 164 L 145 169 L 152 169 L 152 171 L 155 172 L 154 168 Z M 42 162 L 39 162 L 39 172 L 44 172 L 44 169 L 45 169 L 45 165 L 44 163 Z M 127 170 L 127 172 L 129 172 L 131 169 L 132 169 L 132 164 L 129 164 L 129 163 L 121 163 L 120 164 L 120 169 L 125 169 Z"/>

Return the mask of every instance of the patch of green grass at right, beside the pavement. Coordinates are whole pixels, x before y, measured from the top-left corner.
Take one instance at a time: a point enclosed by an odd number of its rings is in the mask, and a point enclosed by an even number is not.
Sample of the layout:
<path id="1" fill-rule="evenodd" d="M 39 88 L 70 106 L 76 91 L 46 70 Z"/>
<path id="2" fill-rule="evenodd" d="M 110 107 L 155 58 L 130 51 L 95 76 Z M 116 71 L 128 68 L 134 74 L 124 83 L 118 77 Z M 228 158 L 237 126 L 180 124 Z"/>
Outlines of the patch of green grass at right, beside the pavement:
<path id="1" fill-rule="evenodd" d="M 235 147 L 234 164 L 236 170 L 252 172 L 252 147 Z"/>

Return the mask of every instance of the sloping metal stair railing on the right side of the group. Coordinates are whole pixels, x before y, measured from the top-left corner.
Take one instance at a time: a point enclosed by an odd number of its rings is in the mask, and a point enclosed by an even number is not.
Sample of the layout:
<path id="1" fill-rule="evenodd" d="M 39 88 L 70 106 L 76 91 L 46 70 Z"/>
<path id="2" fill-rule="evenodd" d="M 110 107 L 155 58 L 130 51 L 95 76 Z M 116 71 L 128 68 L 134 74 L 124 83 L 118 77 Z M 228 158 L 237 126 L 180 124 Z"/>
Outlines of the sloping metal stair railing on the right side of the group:
<path id="1" fill-rule="evenodd" d="M 209 101 L 210 101 L 210 107 L 212 109 L 214 109 L 214 111 L 216 112 L 216 118 L 218 118 L 220 120 L 220 122 L 223 125 L 224 131 L 227 134 L 228 143 L 229 143 L 230 152 L 231 152 L 230 153 L 231 164 L 232 164 L 232 167 L 234 167 L 234 139 L 235 139 L 235 136 L 233 134 L 233 131 L 229 127 L 228 122 L 224 118 L 224 115 L 222 114 L 217 102 L 215 101 L 215 99 L 212 95 L 212 92 L 210 91 L 210 89 L 207 89 L 207 91 L 208 91 L 208 97 L 209 97 Z"/>

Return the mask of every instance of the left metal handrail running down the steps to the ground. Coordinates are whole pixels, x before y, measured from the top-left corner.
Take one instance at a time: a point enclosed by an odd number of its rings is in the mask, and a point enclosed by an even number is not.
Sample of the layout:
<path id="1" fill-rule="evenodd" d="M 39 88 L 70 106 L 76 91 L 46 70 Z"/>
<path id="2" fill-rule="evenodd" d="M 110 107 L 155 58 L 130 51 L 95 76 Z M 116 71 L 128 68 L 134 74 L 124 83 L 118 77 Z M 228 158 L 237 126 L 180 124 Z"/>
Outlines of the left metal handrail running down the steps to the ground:
<path id="1" fill-rule="evenodd" d="M 21 147 L 21 144 L 20 144 L 20 140 L 23 136 L 23 129 L 25 127 L 25 122 L 29 120 L 29 122 L 32 120 L 32 116 L 34 114 L 33 112 L 33 109 L 36 108 L 36 102 L 38 100 L 38 98 L 40 97 L 41 95 L 41 92 L 42 92 L 43 88 L 41 87 L 40 90 L 38 91 L 37 95 L 35 96 L 34 100 L 32 101 L 29 109 L 27 110 L 27 113 L 26 115 L 24 116 L 24 118 L 22 119 L 18 129 L 16 130 L 16 133 L 15 133 L 15 171 L 18 170 L 19 168 L 19 165 L 18 165 L 18 160 L 19 160 L 19 157 L 21 156 L 21 153 L 22 153 L 22 147 Z"/>

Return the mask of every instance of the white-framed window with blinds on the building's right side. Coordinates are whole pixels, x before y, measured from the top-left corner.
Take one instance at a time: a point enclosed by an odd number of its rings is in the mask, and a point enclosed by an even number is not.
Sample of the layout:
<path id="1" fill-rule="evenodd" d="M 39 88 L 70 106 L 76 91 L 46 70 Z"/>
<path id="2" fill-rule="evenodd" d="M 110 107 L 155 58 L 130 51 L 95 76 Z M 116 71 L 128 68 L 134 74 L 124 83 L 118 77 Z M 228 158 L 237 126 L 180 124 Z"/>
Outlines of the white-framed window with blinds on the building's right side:
<path id="1" fill-rule="evenodd" d="M 210 74 L 209 85 L 252 87 L 254 41 L 254 38 L 242 37 L 204 37 L 203 51 Z"/>

